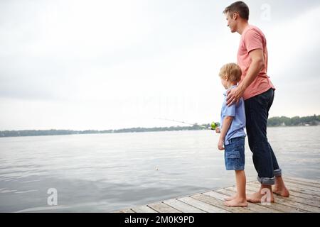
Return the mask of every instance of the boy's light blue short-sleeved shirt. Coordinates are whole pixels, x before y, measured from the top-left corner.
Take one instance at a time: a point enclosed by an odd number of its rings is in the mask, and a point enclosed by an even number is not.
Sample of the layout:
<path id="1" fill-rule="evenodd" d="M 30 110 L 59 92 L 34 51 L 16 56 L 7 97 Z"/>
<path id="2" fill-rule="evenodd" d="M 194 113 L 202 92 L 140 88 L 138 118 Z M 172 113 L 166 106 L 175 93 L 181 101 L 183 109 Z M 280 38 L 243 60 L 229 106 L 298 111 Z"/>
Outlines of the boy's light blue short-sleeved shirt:
<path id="1" fill-rule="evenodd" d="M 232 86 L 230 89 L 233 89 L 237 86 Z M 230 90 L 228 89 L 228 90 Z M 221 128 L 223 126 L 223 118 L 225 116 L 233 116 L 233 121 L 230 125 L 230 128 L 225 135 L 225 145 L 229 144 L 229 140 L 237 137 L 245 137 L 245 101 L 241 98 L 238 104 L 233 104 L 232 106 L 227 106 L 227 92 L 223 94 L 223 106 L 221 108 Z"/>

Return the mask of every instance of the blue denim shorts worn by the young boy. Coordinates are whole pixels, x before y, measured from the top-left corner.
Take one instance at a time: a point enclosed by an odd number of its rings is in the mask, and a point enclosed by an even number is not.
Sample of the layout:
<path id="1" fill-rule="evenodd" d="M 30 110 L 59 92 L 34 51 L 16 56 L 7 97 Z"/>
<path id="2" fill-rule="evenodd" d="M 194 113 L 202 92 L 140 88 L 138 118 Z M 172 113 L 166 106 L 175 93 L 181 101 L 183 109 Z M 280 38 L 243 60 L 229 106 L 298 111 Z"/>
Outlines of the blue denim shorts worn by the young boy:
<path id="1" fill-rule="evenodd" d="M 227 170 L 245 170 L 245 138 L 237 137 L 225 145 L 225 168 Z"/>

